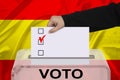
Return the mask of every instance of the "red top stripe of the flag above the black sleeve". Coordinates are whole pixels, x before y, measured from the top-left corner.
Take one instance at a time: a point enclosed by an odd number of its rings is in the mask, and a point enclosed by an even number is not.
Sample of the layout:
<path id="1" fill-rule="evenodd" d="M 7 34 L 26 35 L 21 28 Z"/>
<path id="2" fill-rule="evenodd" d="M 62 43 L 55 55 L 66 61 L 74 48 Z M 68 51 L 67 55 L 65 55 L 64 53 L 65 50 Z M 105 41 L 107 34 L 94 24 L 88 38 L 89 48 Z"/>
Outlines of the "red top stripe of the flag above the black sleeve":
<path id="1" fill-rule="evenodd" d="M 1 0 L 0 19 L 49 19 L 120 0 Z"/>

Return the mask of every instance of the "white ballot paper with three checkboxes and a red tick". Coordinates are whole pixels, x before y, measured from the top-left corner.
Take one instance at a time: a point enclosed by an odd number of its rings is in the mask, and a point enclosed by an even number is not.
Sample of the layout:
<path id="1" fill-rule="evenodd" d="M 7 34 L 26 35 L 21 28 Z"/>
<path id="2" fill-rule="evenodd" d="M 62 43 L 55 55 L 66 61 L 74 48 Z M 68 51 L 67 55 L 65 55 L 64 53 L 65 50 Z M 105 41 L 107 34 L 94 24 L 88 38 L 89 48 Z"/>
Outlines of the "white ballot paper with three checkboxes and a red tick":
<path id="1" fill-rule="evenodd" d="M 89 27 L 64 27 L 49 33 L 51 28 L 32 27 L 31 58 L 61 59 L 62 62 L 89 58 Z"/>

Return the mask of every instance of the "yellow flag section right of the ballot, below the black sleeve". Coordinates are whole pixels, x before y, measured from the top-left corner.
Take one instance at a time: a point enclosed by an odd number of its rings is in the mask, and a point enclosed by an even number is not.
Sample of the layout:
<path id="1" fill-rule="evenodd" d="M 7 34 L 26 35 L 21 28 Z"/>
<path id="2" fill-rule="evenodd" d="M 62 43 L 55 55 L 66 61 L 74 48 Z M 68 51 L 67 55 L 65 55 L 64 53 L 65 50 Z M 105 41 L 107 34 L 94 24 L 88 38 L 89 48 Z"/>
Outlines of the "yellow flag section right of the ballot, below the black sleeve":
<path id="1" fill-rule="evenodd" d="M 103 51 L 107 60 L 120 60 L 120 27 L 91 33 L 90 48 Z"/>

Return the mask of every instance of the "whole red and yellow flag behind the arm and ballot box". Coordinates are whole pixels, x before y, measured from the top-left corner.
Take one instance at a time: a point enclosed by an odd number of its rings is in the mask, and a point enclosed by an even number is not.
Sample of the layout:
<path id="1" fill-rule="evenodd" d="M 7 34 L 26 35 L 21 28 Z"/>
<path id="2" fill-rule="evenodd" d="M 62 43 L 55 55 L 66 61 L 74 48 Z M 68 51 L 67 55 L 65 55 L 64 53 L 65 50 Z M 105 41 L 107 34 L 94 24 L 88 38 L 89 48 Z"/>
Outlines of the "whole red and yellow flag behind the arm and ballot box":
<path id="1" fill-rule="evenodd" d="M 0 80 L 10 80 L 15 56 L 30 49 L 31 26 L 46 26 L 52 15 L 70 14 L 120 0 L 0 0 Z M 90 48 L 104 52 L 111 80 L 120 80 L 120 28 L 90 33 Z"/>

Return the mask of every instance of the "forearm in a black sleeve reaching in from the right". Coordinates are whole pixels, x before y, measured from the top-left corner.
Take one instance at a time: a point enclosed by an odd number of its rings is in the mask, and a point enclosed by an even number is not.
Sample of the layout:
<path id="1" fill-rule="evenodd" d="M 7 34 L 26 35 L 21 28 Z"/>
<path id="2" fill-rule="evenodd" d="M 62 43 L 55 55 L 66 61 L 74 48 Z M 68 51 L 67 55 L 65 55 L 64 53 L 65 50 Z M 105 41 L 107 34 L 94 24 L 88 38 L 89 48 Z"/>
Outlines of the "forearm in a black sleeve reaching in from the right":
<path id="1" fill-rule="evenodd" d="M 120 4 L 110 4 L 62 16 L 65 26 L 89 26 L 90 32 L 120 25 Z"/>

